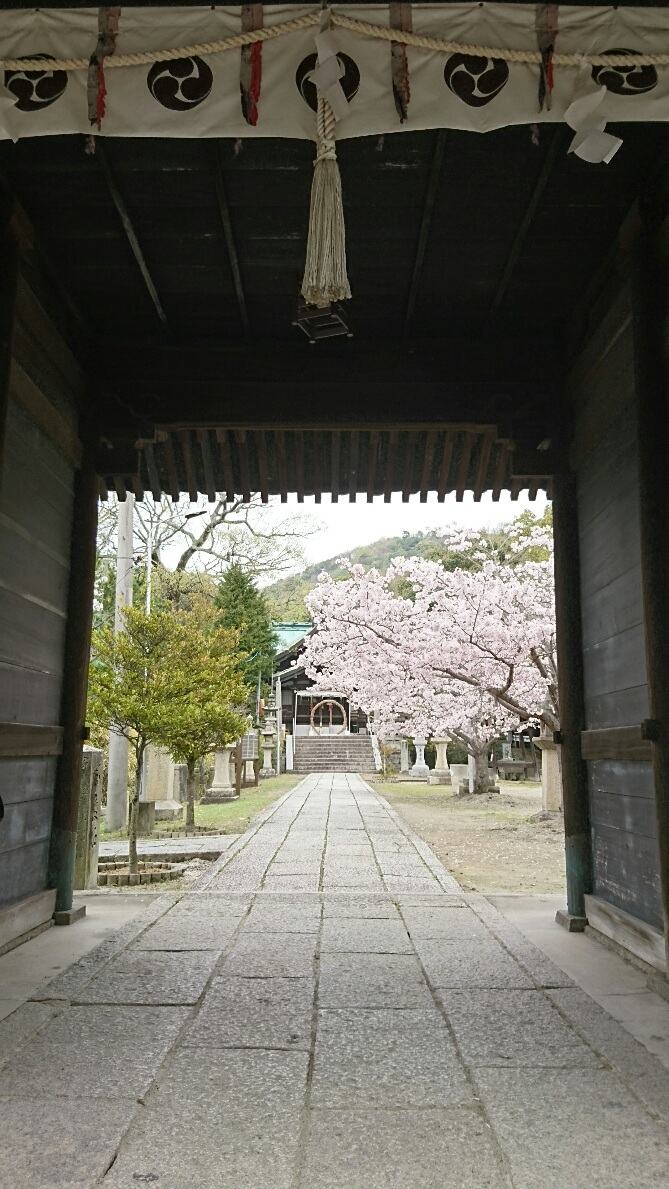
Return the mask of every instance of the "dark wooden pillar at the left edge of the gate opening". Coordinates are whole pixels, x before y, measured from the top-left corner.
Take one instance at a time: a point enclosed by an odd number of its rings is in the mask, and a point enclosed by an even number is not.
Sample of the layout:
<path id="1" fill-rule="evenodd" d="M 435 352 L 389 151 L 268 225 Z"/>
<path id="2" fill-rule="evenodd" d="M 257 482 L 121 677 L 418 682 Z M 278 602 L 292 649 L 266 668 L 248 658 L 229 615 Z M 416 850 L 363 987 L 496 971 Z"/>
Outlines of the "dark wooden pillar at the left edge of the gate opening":
<path id="1" fill-rule="evenodd" d="M 68 623 L 61 696 L 63 754 L 56 770 L 49 853 L 49 887 L 56 888 L 58 924 L 69 924 L 72 919 L 70 913 L 93 627 L 96 531 L 97 476 L 93 464 L 93 449 L 90 442 L 87 442 L 81 470 L 75 477 Z"/>

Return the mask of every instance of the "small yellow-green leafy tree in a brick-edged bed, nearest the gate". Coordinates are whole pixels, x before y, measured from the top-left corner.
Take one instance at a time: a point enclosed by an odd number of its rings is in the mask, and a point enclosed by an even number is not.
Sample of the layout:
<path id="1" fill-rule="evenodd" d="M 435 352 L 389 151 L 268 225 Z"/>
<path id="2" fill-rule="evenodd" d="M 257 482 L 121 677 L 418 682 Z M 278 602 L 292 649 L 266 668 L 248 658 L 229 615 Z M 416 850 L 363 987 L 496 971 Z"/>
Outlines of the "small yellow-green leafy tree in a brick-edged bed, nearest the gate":
<path id="1" fill-rule="evenodd" d="M 137 768 L 130 805 L 130 870 L 137 873 L 137 823 L 141 768 L 149 743 L 171 750 L 181 723 L 194 707 L 210 704 L 219 674 L 214 646 L 196 616 L 127 608 L 125 631 L 111 625 L 93 637 L 88 716 L 112 726 L 134 750 Z M 236 686 L 235 686 L 236 688 Z"/>

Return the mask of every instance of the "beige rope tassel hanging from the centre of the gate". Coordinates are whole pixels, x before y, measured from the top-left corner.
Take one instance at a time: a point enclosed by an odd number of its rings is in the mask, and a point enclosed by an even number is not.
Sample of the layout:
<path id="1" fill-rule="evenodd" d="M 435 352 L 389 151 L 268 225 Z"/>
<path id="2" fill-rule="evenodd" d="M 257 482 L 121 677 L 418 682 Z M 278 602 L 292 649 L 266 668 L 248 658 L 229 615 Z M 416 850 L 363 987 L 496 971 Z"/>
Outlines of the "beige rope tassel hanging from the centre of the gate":
<path id="1" fill-rule="evenodd" d="M 302 296 L 323 308 L 351 297 L 346 273 L 346 228 L 341 177 L 335 150 L 336 120 L 327 99 L 318 94 L 316 161 L 311 182 L 309 238 Z"/>

